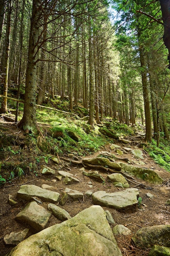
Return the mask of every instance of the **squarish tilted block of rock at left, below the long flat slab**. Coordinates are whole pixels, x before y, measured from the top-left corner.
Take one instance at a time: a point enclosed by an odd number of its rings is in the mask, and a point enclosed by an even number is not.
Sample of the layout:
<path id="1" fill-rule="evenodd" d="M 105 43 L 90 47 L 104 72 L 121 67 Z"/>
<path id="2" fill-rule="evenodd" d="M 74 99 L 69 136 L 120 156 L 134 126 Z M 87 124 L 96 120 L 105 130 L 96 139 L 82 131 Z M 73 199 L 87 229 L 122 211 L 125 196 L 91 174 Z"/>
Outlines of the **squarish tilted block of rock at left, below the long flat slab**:
<path id="1" fill-rule="evenodd" d="M 51 212 L 36 202 L 30 202 L 15 217 L 16 220 L 28 223 L 35 230 L 40 231 L 46 227 Z"/>

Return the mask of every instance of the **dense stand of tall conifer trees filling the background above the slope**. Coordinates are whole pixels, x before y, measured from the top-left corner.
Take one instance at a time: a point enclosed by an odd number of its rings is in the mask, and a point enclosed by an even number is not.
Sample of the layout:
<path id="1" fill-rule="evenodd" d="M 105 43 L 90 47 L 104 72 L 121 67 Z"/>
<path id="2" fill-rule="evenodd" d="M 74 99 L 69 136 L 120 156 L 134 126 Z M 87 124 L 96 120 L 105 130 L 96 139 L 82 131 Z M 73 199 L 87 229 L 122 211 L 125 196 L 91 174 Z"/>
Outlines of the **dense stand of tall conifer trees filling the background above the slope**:
<path id="1" fill-rule="evenodd" d="M 132 126 L 141 118 L 145 141 L 152 127 L 157 145 L 160 134 L 169 140 L 160 2 L 0 0 L 1 113 L 15 108 L 18 127 L 31 134 L 38 130 L 36 104 L 57 108 L 68 99 L 64 110 L 81 104 L 91 129 L 105 116 Z M 22 117 L 19 101 L 7 96 L 24 99 Z"/>

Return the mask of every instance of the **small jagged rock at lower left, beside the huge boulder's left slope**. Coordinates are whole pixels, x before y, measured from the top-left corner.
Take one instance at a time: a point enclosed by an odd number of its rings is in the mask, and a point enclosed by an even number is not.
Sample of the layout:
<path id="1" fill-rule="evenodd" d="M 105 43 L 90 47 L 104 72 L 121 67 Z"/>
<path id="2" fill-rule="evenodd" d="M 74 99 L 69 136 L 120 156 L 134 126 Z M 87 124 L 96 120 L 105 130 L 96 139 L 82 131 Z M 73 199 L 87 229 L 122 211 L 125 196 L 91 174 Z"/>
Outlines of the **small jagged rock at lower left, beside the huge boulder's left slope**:
<path id="1" fill-rule="evenodd" d="M 18 245 L 22 242 L 29 233 L 29 229 L 24 229 L 19 232 L 11 232 L 9 235 L 4 236 L 4 243 L 6 245 Z"/>

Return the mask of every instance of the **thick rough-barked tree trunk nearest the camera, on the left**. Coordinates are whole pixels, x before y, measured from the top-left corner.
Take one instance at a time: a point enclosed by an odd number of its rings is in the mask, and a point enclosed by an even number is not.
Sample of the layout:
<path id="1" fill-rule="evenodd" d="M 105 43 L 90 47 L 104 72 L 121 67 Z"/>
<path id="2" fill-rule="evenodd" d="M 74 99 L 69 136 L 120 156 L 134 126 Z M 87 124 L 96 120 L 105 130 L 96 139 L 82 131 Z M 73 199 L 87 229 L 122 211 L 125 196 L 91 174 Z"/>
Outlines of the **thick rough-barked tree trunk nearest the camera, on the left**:
<path id="1" fill-rule="evenodd" d="M 36 122 L 36 55 L 37 43 L 39 40 L 39 25 L 40 23 L 40 1 L 33 0 L 31 28 L 29 36 L 29 52 L 28 63 L 26 70 L 26 84 L 25 84 L 25 100 L 24 100 L 24 113 L 19 123 L 19 127 L 27 133 L 37 131 Z"/>

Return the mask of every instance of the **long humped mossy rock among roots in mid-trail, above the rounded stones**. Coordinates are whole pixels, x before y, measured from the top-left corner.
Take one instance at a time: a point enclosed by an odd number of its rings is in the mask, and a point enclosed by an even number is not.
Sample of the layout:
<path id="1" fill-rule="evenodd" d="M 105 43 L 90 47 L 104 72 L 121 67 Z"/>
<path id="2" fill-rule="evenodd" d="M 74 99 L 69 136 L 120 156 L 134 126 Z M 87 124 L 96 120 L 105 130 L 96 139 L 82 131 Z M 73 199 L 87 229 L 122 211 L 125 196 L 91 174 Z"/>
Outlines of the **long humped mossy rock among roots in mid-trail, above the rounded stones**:
<path id="1" fill-rule="evenodd" d="M 111 162 L 108 158 L 105 158 L 105 157 L 84 158 L 82 160 L 82 162 L 84 164 L 92 164 L 92 165 L 99 165 L 99 166 L 112 168 L 112 169 L 115 169 L 117 171 L 121 170 L 120 164 L 117 164 L 115 162 Z"/>

